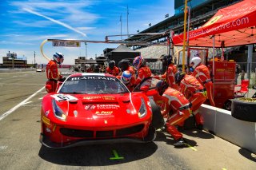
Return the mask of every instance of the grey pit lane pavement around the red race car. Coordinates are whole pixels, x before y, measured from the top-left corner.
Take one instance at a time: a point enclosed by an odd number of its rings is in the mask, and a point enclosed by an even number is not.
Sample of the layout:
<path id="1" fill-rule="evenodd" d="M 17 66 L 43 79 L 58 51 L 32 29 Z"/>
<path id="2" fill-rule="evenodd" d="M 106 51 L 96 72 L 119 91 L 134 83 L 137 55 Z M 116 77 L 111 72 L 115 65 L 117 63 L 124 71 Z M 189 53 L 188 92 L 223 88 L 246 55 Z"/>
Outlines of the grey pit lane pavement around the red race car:
<path id="1" fill-rule="evenodd" d="M 0 117 L 42 89 L 45 74 L 0 73 Z M 183 133 L 192 148 L 174 148 L 165 132 L 150 144 L 42 147 L 38 138 L 45 94 L 42 89 L 0 121 L 0 169 L 256 169 L 254 154 L 196 129 Z M 114 151 L 123 159 L 110 160 Z"/>

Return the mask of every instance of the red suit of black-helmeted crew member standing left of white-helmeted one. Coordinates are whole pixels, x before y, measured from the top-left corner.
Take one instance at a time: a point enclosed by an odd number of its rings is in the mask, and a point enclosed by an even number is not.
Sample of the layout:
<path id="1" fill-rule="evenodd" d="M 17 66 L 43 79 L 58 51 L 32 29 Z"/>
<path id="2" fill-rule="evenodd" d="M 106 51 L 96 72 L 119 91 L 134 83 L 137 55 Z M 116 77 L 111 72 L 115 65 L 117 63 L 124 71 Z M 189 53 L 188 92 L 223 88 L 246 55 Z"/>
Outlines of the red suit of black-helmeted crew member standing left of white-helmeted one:
<path id="1" fill-rule="evenodd" d="M 174 79 L 175 73 L 177 73 L 177 67 L 173 63 L 170 63 L 170 65 L 168 65 L 166 73 L 160 76 L 154 76 L 154 78 L 166 79 L 166 82 L 168 83 L 168 85 L 170 85 L 171 88 L 178 89 L 178 85 L 175 83 Z"/>

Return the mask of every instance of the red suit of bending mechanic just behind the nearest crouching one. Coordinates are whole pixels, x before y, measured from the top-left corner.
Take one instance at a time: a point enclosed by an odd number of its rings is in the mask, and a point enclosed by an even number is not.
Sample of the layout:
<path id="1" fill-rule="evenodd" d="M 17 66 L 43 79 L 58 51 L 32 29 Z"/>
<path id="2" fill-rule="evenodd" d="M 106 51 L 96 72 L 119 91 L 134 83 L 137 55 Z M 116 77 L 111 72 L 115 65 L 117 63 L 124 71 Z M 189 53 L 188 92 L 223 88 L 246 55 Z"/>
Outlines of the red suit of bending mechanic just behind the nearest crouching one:
<path id="1" fill-rule="evenodd" d="M 205 89 L 194 76 L 185 75 L 180 83 L 180 91 L 192 104 L 191 111 L 194 114 L 197 125 L 202 125 L 203 119 L 200 113 L 198 113 L 198 109 L 206 101 L 207 95 Z"/>

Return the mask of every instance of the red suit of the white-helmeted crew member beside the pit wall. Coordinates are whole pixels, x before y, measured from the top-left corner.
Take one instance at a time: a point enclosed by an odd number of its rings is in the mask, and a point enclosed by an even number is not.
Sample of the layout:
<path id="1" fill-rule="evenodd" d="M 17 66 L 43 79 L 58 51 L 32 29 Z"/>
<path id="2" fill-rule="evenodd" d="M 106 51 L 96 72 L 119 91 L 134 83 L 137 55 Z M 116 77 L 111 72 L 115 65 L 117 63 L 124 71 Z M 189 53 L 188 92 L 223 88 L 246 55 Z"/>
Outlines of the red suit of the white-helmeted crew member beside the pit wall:
<path id="1" fill-rule="evenodd" d="M 210 80 L 210 72 L 206 65 L 198 65 L 192 76 L 196 77 L 196 79 L 206 88 L 207 97 L 210 101 L 210 105 L 215 106 L 214 98 L 213 98 L 213 82 Z"/>

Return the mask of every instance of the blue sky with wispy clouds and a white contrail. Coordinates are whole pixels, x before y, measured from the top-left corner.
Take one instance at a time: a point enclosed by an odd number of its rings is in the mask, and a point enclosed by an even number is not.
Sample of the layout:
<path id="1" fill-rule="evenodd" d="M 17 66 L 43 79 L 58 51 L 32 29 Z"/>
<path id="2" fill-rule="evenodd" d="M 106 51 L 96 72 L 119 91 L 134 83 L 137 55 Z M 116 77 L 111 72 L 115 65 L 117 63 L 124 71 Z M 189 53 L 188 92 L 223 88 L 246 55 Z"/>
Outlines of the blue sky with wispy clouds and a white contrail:
<path id="1" fill-rule="evenodd" d="M 106 35 L 127 33 L 126 9 L 129 6 L 129 33 L 145 30 L 161 22 L 165 14 L 174 15 L 174 0 L 1 0 L 0 3 L 0 63 L 8 51 L 25 56 L 34 63 L 47 63 L 40 45 L 47 38 L 104 41 Z M 118 45 L 87 44 L 87 56 L 95 57 L 105 48 Z M 74 64 L 78 56 L 86 56 L 85 45 L 80 48 L 44 45 L 44 53 L 52 57 L 61 52 L 63 64 Z"/>

